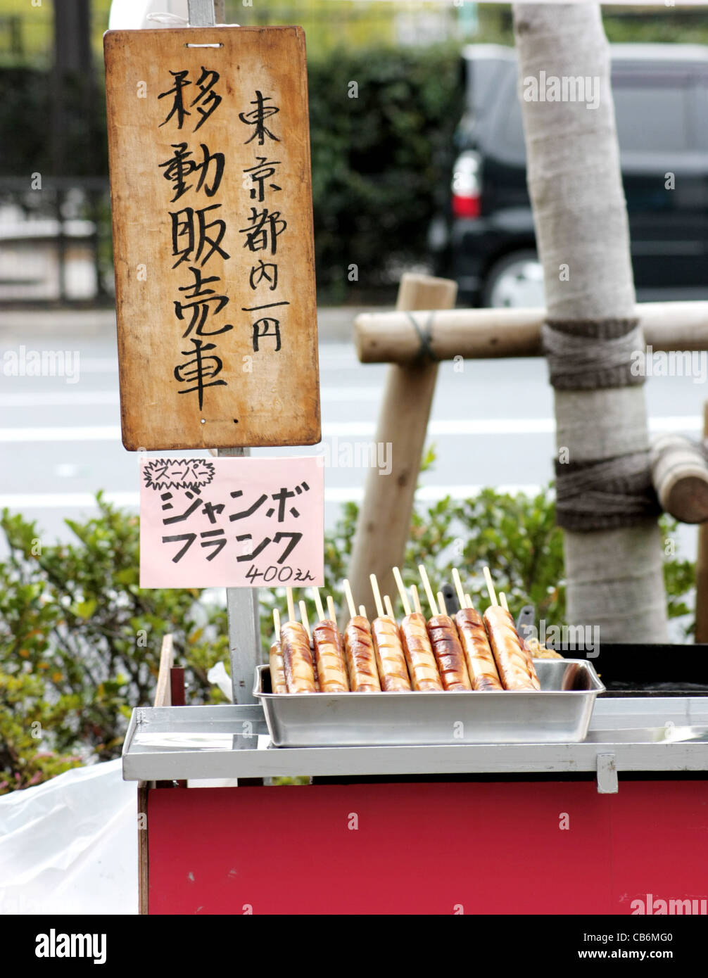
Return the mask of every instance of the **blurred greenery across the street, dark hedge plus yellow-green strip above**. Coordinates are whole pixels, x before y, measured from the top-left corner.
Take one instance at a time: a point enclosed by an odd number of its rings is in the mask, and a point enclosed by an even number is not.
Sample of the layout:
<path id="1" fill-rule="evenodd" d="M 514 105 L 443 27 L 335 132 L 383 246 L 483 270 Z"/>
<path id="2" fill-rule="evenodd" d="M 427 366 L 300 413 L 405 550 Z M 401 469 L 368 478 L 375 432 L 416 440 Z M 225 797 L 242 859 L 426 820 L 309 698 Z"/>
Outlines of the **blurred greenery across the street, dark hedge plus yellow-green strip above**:
<path id="1" fill-rule="evenodd" d="M 110 0 L 90 6 L 93 72 L 86 66 L 63 82 L 61 140 L 48 126 L 58 97 L 53 9 L 50 0 L 38 7 L 0 0 L 0 181 L 28 183 L 32 172 L 50 179 L 108 177 L 102 34 Z M 406 28 L 402 10 L 428 12 L 429 20 L 412 20 Z M 445 5 L 443 13 L 437 0 L 226 4 L 228 22 L 300 23 L 306 32 L 321 303 L 392 299 L 403 265 L 426 260 L 427 228 L 448 198 L 453 134 L 462 114 L 461 46 L 513 43 L 509 5 L 465 0 L 459 8 Z M 611 41 L 708 43 L 705 9 L 605 8 L 603 20 Z M 447 26 L 433 29 L 437 24 Z M 352 81 L 356 98 L 350 97 Z M 100 224 L 99 261 L 108 281 L 108 204 L 95 204 L 87 216 Z"/>

